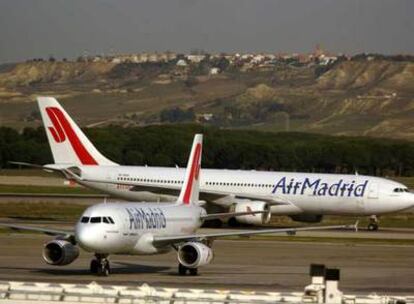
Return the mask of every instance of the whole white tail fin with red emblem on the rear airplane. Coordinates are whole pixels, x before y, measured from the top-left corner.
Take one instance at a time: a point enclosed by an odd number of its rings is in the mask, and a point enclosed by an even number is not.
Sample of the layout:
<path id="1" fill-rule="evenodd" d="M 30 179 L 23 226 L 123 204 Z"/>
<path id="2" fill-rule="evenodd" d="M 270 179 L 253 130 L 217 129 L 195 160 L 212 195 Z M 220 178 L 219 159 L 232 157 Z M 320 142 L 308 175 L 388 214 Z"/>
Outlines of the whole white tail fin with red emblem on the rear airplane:
<path id="1" fill-rule="evenodd" d="M 117 165 L 103 156 L 53 97 L 38 97 L 55 164 Z"/>

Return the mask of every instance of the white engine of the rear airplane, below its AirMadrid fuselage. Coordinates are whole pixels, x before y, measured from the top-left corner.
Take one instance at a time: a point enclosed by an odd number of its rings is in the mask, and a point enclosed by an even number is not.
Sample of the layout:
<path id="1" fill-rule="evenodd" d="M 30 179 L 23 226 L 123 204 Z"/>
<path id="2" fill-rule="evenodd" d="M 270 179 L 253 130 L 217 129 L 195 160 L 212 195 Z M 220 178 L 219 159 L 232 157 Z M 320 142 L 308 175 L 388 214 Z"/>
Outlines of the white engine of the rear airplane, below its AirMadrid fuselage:
<path id="1" fill-rule="evenodd" d="M 263 225 L 270 222 L 271 213 L 269 205 L 261 201 L 241 201 L 235 204 L 234 212 L 264 211 L 264 213 L 236 216 L 242 224 Z"/>

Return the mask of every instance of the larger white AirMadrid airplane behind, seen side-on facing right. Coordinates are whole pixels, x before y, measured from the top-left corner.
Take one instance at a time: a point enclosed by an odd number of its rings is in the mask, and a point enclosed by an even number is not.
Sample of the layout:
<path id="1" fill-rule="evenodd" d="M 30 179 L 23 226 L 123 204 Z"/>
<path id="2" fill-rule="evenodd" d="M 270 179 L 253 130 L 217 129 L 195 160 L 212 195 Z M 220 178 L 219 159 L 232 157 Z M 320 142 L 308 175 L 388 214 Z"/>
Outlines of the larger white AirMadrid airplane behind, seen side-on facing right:
<path id="1" fill-rule="evenodd" d="M 55 98 L 37 100 L 54 164 L 14 163 L 57 171 L 83 186 L 130 201 L 176 199 L 184 169 L 121 166 L 95 148 Z M 271 215 L 307 223 L 320 222 L 324 215 L 371 216 L 369 230 L 378 229 L 377 215 L 414 206 L 414 194 L 406 186 L 380 177 L 223 169 L 203 170 L 200 199 L 207 202 L 208 212 L 239 212 L 247 207 L 271 211 L 236 216 L 227 220 L 229 224 L 263 225 Z"/>

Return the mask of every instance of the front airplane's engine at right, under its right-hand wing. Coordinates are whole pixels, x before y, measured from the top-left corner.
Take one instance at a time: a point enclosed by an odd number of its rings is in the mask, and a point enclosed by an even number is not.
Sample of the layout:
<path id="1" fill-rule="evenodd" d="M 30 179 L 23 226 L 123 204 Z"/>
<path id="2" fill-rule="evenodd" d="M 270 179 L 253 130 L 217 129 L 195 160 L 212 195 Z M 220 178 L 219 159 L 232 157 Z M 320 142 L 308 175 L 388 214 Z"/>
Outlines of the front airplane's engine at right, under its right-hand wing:
<path id="1" fill-rule="evenodd" d="M 213 250 L 203 243 L 188 242 L 178 249 L 178 261 L 188 268 L 197 268 L 210 264 Z"/>

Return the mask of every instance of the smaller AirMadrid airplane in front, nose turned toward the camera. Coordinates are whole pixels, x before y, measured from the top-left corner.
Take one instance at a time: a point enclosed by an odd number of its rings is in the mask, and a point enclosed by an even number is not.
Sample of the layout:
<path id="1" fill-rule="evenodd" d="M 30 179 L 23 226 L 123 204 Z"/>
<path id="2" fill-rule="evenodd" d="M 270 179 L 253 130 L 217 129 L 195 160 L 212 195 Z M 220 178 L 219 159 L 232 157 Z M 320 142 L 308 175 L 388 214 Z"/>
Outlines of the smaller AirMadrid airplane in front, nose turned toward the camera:
<path id="1" fill-rule="evenodd" d="M 185 171 L 185 180 L 175 203 L 101 203 L 84 211 L 74 231 L 0 223 L 16 230 L 31 230 L 56 236 L 46 243 L 43 259 L 51 265 L 74 262 L 79 247 L 95 254 L 90 272 L 107 276 L 109 255 L 155 255 L 175 249 L 179 275 L 197 275 L 198 267 L 213 260 L 214 239 L 269 233 L 294 234 L 297 231 L 355 228 L 355 225 L 299 227 L 197 234 L 205 220 L 261 211 L 246 209 L 240 213 L 207 214 L 199 206 L 202 135 L 196 134 Z"/>

